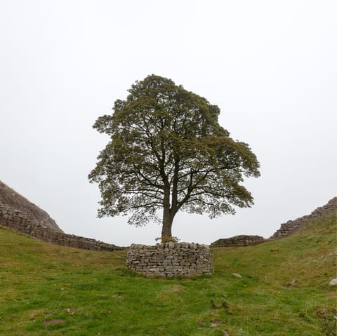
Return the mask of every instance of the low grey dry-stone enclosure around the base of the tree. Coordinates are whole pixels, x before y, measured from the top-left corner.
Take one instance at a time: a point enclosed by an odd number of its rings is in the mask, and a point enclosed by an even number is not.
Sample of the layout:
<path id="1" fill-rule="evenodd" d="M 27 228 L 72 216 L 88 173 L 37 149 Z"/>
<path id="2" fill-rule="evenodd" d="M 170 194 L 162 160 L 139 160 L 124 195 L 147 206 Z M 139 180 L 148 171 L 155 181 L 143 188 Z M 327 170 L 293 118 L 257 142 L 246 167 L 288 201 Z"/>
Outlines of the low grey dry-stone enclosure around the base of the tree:
<path id="1" fill-rule="evenodd" d="M 144 276 L 200 276 L 213 274 L 213 256 L 198 243 L 132 244 L 126 267 Z"/>

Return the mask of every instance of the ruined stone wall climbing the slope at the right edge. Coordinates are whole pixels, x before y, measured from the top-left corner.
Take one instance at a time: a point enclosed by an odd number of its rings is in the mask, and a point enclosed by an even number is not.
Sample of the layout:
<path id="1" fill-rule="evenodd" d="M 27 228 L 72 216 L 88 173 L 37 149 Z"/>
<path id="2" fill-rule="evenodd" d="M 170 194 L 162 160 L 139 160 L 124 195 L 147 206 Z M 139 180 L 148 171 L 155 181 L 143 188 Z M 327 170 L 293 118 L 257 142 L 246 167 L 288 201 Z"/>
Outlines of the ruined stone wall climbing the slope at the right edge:
<path id="1" fill-rule="evenodd" d="M 305 215 L 303 217 L 297 218 L 296 220 L 289 220 L 288 222 L 281 224 L 281 227 L 275 232 L 275 234 L 270 237 L 270 239 L 289 236 L 310 220 L 315 220 L 316 218 L 322 217 L 322 215 L 331 213 L 336 210 L 337 197 L 333 197 L 333 199 L 326 203 L 325 206 L 320 206 L 319 208 L 312 211 L 310 215 Z"/>

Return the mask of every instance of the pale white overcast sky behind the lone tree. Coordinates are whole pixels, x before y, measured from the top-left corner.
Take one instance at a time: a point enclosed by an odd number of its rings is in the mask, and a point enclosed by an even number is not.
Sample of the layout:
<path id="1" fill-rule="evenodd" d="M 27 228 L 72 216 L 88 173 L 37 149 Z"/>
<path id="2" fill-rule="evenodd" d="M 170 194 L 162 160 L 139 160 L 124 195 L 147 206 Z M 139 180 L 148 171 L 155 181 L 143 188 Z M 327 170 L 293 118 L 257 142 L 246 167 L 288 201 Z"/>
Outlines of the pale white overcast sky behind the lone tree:
<path id="1" fill-rule="evenodd" d="M 0 180 L 69 234 L 153 244 L 161 227 L 96 218 L 87 175 L 108 138 L 93 130 L 149 74 L 221 109 L 261 177 L 252 208 L 180 213 L 173 236 L 269 237 L 337 194 L 337 2 L 0 1 Z"/>

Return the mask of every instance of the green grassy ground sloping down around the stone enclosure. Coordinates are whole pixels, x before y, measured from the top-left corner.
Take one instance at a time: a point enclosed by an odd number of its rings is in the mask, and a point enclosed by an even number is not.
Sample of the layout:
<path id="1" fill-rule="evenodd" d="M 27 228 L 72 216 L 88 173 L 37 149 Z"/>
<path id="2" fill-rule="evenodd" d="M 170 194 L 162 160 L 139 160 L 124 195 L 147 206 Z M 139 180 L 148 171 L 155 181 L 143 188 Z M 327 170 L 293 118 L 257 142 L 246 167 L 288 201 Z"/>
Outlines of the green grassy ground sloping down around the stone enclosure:
<path id="1" fill-rule="evenodd" d="M 213 253 L 213 276 L 148 279 L 125 269 L 125 251 L 54 246 L 0 227 L 0 335 L 336 335 L 336 288 L 326 285 L 336 276 L 335 214 Z M 43 324 L 55 319 L 65 323 Z"/>

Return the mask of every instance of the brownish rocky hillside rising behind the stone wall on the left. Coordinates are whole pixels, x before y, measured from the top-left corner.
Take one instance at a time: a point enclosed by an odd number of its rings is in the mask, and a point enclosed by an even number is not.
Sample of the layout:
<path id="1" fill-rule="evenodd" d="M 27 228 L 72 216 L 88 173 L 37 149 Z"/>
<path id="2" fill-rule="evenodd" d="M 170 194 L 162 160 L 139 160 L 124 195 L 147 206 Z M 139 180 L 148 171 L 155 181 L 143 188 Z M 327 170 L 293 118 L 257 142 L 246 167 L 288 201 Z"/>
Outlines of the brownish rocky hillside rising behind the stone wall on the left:
<path id="1" fill-rule="evenodd" d="M 0 181 L 0 205 L 7 206 L 21 213 L 25 213 L 27 217 L 39 222 L 43 227 L 48 227 L 53 231 L 62 232 L 55 220 L 51 218 L 46 211 L 40 209 L 34 203 L 29 202 L 25 197 L 21 196 L 15 190 L 8 187 Z"/>

